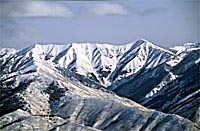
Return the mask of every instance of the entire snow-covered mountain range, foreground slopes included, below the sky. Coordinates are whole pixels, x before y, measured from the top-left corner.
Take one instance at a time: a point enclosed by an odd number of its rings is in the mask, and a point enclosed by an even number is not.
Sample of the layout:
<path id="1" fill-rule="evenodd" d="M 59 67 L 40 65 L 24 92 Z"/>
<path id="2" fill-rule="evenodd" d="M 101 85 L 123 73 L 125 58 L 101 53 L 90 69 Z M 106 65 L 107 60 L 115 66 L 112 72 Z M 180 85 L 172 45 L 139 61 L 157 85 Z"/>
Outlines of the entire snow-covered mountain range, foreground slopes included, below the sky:
<path id="1" fill-rule="evenodd" d="M 1 48 L 0 129 L 198 131 L 199 54 L 144 39 Z"/>

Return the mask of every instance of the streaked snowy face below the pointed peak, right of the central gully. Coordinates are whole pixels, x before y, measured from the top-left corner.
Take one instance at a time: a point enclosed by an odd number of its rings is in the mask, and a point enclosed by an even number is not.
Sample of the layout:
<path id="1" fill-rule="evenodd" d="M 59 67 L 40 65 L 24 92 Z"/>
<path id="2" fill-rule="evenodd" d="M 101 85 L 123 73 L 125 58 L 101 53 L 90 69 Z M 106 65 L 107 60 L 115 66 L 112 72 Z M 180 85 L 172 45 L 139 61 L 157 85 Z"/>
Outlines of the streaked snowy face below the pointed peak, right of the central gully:
<path id="1" fill-rule="evenodd" d="M 109 89 L 116 90 L 120 85 L 154 69 L 174 56 L 173 52 L 146 40 L 136 41 L 120 58 L 116 69 L 111 73 L 109 79 L 112 84 Z"/>

